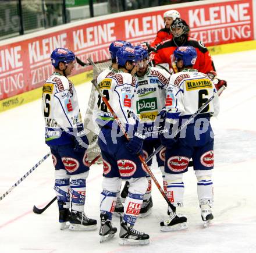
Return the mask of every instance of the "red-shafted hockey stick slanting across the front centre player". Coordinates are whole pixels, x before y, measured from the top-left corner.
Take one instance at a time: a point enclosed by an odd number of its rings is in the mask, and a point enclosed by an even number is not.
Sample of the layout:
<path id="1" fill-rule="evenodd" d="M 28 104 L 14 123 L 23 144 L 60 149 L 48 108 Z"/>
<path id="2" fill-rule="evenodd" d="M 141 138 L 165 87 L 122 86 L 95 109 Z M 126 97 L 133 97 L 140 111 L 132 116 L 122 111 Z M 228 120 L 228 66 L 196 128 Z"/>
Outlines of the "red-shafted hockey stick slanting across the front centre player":
<path id="1" fill-rule="evenodd" d="M 93 65 L 93 61 L 88 58 L 88 61 L 91 62 L 91 64 Z M 125 137 L 127 138 L 127 140 L 130 140 L 129 135 L 127 134 L 125 127 L 123 126 L 122 122 L 120 122 L 119 117 L 116 115 L 115 111 L 113 111 L 111 105 L 109 104 L 108 100 L 105 98 L 105 96 L 102 94 L 101 90 L 99 90 L 97 81 L 94 79 L 91 81 L 91 83 L 93 83 L 95 89 L 99 92 L 99 95 L 102 98 L 102 101 L 105 103 L 106 107 L 109 109 L 109 112 L 112 113 L 114 119 L 116 120 L 116 122 L 118 123 L 118 126 L 120 127 L 120 129 L 122 130 L 123 134 L 125 135 Z M 138 158 L 140 159 L 141 163 L 143 164 L 144 168 L 147 170 L 147 173 L 150 174 L 152 180 L 154 181 L 155 185 L 157 186 L 158 190 L 160 191 L 160 193 L 162 194 L 163 198 L 165 198 L 166 202 L 168 203 L 168 205 L 170 206 L 170 208 L 172 209 L 173 212 L 176 211 L 175 206 L 169 201 L 168 197 L 166 197 L 165 192 L 162 190 L 162 187 L 160 186 L 160 184 L 158 183 L 157 179 L 155 178 L 154 174 L 151 172 L 150 168 L 148 167 L 147 163 L 145 162 L 144 158 L 142 155 L 138 155 Z"/>

